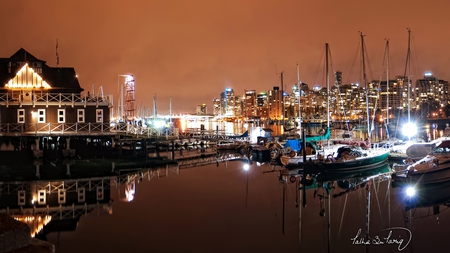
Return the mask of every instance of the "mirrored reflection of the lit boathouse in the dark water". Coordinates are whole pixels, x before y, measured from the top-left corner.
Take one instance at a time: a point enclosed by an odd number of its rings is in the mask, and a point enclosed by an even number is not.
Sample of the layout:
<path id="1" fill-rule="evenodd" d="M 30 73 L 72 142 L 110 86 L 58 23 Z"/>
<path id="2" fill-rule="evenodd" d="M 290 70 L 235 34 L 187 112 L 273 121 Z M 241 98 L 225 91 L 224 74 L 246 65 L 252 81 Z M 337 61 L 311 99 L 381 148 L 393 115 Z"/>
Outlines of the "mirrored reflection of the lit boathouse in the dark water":
<path id="1" fill-rule="evenodd" d="M 144 178 L 164 177 L 169 169 L 179 173 L 178 166 L 154 169 L 116 171 L 119 175 L 45 180 L 36 168 L 39 180 L 0 182 L 0 213 L 26 223 L 31 236 L 46 240 L 51 232 L 74 231 L 80 218 L 95 211 L 97 215 L 112 214 L 111 190 L 124 185 L 124 201 L 131 202 L 136 183 Z M 108 173 L 111 174 L 111 173 Z M 123 189 L 122 189 L 123 190 Z"/>

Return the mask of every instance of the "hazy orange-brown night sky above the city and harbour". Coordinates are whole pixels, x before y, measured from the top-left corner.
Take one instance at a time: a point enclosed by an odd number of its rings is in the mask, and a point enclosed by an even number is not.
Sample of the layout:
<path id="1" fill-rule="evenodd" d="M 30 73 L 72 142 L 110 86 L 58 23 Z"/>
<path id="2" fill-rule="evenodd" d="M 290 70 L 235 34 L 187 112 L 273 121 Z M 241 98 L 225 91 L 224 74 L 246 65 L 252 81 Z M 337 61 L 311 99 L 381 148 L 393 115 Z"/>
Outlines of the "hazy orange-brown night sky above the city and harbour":
<path id="1" fill-rule="evenodd" d="M 403 75 L 407 28 L 412 31 L 413 81 L 425 71 L 450 81 L 448 0 L 3 0 L 0 57 L 21 47 L 56 66 L 74 67 L 85 90 L 101 86 L 118 98 L 118 75 L 133 74 L 136 106 L 159 114 L 194 112 L 229 87 L 237 95 L 300 79 L 324 85 L 324 45 L 332 71 L 359 82 L 359 31 L 365 34 L 367 76 Z M 356 63 L 355 63 L 356 62 Z M 321 67 L 322 66 L 322 67 Z"/>

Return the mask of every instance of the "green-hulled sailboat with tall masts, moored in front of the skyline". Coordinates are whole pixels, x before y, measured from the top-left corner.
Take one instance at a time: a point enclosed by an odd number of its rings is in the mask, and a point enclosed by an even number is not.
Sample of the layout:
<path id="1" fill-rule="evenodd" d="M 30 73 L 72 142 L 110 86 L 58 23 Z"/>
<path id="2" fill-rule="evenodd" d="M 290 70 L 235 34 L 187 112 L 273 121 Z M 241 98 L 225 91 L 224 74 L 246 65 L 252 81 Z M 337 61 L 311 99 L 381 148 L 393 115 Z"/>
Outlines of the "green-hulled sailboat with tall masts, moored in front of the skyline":
<path id="1" fill-rule="evenodd" d="M 367 79 L 365 75 L 364 65 L 364 36 L 361 34 L 362 57 L 363 57 L 363 73 L 364 82 L 366 83 L 366 104 L 367 104 L 367 121 L 368 121 L 368 135 L 365 141 L 353 141 L 350 143 L 343 143 L 331 149 L 324 150 L 324 152 L 316 154 L 314 157 L 306 154 L 306 149 L 303 149 L 303 155 L 282 156 L 281 162 L 285 168 L 294 171 L 294 174 L 301 173 L 320 173 L 320 172 L 349 172 L 353 170 L 366 170 L 387 161 L 389 150 L 384 147 L 378 147 L 370 143 L 370 115 L 368 109 L 368 89 Z M 328 55 L 328 44 L 326 44 Z M 328 65 L 328 56 L 327 56 Z M 328 66 L 327 66 L 328 76 Z M 329 89 L 329 80 L 327 78 L 327 88 Z M 329 101 L 328 101 L 329 102 Z M 328 103 L 329 104 L 329 103 Z M 329 113 L 328 113 L 329 115 Z M 328 116 L 329 117 L 329 116 Z M 329 120 L 328 120 L 329 122 Z M 329 124 L 329 123 L 328 123 Z M 328 125 L 329 126 L 329 125 Z M 329 127 L 328 127 L 329 128 Z M 357 144 L 357 145 L 356 145 Z M 327 153 L 325 153 L 327 152 Z M 292 173 L 291 173 L 292 174 Z"/>

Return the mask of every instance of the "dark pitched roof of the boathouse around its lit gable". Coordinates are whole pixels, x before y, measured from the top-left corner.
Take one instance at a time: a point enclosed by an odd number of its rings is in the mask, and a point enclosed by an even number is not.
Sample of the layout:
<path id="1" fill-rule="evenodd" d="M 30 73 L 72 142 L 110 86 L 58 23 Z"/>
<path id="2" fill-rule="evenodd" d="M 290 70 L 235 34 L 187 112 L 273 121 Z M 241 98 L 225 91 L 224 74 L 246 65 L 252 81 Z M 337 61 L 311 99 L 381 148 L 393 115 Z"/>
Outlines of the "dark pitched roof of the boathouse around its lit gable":
<path id="1" fill-rule="evenodd" d="M 5 87 L 9 80 L 14 78 L 17 72 L 28 63 L 44 81 L 50 84 L 52 93 L 80 93 L 81 88 L 74 68 L 49 67 L 45 61 L 40 60 L 20 48 L 9 58 L 0 58 L 0 89 Z"/>

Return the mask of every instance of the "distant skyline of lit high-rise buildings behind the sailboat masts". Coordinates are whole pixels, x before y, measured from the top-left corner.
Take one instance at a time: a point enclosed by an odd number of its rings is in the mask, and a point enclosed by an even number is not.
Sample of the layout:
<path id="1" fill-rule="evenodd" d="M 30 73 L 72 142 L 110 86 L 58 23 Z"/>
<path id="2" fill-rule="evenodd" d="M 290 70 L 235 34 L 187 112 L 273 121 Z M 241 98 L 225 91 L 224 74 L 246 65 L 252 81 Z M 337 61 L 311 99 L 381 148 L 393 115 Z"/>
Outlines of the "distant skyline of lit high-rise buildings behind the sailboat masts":
<path id="1" fill-rule="evenodd" d="M 382 123 L 386 117 L 392 120 L 404 114 L 408 107 L 414 111 L 429 100 L 437 101 L 443 107 L 449 100 L 448 82 L 431 73 L 417 80 L 415 89 L 411 87 L 409 92 L 407 83 L 411 83 L 411 80 L 405 76 L 396 76 L 389 81 L 372 80 L 367 85 L 343 84 L 342 73 L 337 71 L 335 79 L 329 92 L 326 87 L 309 89 L 305 83 L 295 83 L 292 91 L 284 94 L 280 87 L 275 86 L 267 93 L 256 94 L 254 90 L 245 90 L 241 98 L 235 96 L 232 89 L 227 89 L 221 93 L 221 99 L 214 101 L 214 115 L 274 120 L 298 118 L 301 115 L 303 121 L 309 121 L 325 119 L 329 103 L 332 121 L 361 122 L 367 116 L 371 119 L 376 116 L 375 119 Z"/>

